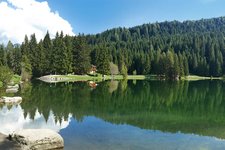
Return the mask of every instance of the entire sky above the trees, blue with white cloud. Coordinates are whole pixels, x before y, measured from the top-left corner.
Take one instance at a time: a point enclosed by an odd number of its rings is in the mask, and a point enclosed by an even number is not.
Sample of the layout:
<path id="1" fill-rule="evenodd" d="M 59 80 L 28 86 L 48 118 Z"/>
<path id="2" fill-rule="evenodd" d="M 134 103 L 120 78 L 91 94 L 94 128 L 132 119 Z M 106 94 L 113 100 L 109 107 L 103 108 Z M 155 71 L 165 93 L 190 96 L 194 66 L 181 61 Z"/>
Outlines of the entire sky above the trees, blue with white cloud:
<path id="1" fill-rule="evenodd" d="M 0 43 L 48 30 L 99 33 L 113 27 L 225 16 L 224 0 L 0 0 Z"/>

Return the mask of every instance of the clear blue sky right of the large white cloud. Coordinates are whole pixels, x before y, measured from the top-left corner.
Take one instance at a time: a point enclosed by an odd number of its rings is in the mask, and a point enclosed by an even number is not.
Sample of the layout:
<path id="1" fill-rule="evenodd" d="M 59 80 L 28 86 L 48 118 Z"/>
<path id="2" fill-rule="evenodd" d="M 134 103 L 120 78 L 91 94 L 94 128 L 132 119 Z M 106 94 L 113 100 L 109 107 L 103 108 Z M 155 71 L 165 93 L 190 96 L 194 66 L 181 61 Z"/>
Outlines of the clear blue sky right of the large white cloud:
<path id="1" fill-rule="evenodd" d="M 43 0 L 40 0 L 43 1 Z M 48 0 L 75 33 L 171 20 L 225 16 L 224 0 Z"/>

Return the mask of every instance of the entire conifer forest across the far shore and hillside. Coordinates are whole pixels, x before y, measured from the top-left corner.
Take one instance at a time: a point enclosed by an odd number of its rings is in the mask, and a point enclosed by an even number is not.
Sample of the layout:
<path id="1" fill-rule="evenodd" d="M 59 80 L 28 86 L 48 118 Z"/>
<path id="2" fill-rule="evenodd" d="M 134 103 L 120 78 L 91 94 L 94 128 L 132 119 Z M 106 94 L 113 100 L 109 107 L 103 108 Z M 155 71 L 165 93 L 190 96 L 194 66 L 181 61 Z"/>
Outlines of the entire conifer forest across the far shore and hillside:
<path id="1" fill-rule="evenodd" d="M 177 78 L 189 74 L 222 76 L 225 73 L 225 17 L 172 21 L 114 28 L 75 37 L 35 34 L 22 44 L 0 46 L 0 65 L 15 74 L 86 74 L 91 65 L 110 74 L 110 63 L 120 74 L 156 74 Z"/>

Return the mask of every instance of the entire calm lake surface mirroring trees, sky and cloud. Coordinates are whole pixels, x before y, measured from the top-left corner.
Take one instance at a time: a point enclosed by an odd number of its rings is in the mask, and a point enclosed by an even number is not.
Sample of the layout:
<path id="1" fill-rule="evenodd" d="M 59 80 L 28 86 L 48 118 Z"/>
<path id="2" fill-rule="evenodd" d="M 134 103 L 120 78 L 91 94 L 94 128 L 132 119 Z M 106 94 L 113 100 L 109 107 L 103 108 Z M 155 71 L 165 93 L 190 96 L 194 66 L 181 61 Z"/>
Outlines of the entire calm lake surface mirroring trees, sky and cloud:
<path id="1" fill-rule="evenodd" d="M 0 92 L 0 95 L 4 95 Z M 223 81 L 24 84 L 0 132 L 49 128 L 65 150 L 224 150 Z"/>

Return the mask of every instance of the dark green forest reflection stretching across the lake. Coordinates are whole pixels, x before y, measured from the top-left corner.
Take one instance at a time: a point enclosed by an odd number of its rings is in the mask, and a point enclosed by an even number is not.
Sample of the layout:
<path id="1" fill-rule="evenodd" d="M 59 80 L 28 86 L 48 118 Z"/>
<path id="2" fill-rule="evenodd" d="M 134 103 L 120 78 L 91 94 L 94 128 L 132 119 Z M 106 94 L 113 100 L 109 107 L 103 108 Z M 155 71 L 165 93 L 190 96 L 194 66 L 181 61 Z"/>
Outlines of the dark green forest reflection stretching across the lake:
<path id="1" fill-rule="evenodd" d="M 96 116 L 114 124 L 143 129 L 181 131 L 225 138 L 225 86 L 222 81 L 103 82 L 96 89 L 87 83 L 36 82 L 22 90 L 24 115 L 36 111 L 48 120 L 82 121 Z"/>

